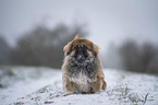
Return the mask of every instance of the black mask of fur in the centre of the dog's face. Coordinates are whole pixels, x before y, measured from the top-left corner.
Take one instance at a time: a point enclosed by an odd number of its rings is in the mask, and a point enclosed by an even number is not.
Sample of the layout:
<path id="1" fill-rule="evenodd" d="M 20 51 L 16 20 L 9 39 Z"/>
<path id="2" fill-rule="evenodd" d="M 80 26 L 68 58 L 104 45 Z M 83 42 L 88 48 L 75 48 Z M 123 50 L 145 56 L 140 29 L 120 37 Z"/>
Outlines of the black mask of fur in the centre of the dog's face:
<path id="1" fill-rule="evenodd" d="M 74 57 L 78 60 L 85 60 L 88 57 L 87 47 L 85 45 L 76 45 L 74 47 L 75 54 Z"/>

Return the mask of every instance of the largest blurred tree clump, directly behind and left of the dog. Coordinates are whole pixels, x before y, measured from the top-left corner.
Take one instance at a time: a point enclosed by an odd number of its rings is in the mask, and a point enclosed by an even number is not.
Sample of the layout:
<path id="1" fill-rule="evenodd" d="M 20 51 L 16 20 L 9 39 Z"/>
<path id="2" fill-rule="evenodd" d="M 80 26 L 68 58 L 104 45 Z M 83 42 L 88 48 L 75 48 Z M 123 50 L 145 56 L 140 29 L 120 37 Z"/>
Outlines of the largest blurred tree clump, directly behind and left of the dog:
<path id="1" fill-rule="evenodd" d="M 17 42 L 17 47 L 11 56 L 14 65 L 49 66 L 60 68 L 63 60 L 63 46 L 76 34 L 86 36 L 83 25 L 68 26 L 58 24 L 54 28 L 37 25 Z"/>

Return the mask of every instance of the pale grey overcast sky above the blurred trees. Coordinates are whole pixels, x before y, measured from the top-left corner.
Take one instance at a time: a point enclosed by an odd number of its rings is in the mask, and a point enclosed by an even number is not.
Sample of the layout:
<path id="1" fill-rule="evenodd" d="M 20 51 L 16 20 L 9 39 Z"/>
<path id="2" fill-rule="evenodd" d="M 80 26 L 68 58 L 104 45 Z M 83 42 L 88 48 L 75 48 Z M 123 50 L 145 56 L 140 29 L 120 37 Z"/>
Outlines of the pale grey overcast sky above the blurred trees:
<path id="1" fill-rule="evenodd" d="M 101 49 L 129 37 L 158 44 L 158 0 L 0 0 L 0 34 L 10 44 L 35 24 L 74 20 L 88 24 Z"/>

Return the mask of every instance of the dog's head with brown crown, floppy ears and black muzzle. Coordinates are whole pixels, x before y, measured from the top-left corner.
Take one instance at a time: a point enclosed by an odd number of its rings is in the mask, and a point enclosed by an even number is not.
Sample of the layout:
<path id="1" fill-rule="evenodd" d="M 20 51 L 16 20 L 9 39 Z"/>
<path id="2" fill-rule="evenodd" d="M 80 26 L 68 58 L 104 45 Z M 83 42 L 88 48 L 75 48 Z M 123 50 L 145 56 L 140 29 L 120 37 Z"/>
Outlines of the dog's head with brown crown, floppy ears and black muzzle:
<path id="1" fill-rule="evenodd" d="M 77 59 L 86 59 L 89 55 L 97 57 L 98 46 L 86 38 L 75 37 L 72 42 L 65 45 L 64 49 L 65 56 L 72 56 Z"/>

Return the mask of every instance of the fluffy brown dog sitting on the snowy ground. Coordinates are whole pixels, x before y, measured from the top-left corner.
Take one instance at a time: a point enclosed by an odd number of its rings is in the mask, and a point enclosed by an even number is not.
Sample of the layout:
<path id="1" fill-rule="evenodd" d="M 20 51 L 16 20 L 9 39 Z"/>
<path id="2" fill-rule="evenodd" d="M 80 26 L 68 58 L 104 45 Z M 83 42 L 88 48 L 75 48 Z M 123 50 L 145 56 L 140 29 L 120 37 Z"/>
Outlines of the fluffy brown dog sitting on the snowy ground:
<path id="1" fill-rule="evenodd" d="M 94 93 L 106 90 L 99 48 L 86 38 L 75 37 L 64 46 L 63 89 L 68 93 Z"/>

